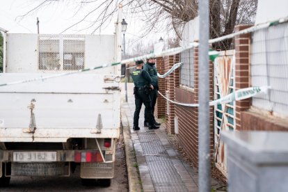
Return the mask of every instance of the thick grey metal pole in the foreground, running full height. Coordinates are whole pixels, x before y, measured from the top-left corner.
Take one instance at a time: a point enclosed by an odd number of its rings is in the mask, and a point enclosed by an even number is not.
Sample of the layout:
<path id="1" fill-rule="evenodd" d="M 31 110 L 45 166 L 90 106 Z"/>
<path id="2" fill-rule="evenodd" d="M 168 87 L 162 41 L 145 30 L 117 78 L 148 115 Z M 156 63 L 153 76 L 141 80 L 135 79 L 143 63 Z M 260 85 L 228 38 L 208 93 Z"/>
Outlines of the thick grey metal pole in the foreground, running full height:
<path id="1" fill-rule="evenodd" d="M 209 0 L 199 1 L 199 191 L 211 191 L 209 141 Z"/>

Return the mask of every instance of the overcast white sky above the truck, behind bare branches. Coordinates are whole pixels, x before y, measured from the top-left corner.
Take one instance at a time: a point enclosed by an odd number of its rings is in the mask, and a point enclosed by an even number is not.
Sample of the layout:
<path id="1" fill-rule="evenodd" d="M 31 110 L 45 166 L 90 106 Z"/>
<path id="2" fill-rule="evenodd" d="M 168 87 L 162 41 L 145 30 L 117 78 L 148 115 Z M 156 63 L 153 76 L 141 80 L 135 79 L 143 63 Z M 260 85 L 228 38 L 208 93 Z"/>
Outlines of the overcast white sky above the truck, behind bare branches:
<path id="1" fill-rule="evenodd" d="M 67 27 L 78 22 L 83 16 L 88 13 L 88 8 L 83 8 L 81 12 L 74 15 L 76 10 L 74 3 L 69 3 L 67 5 L 64 3 L 56 3 L 54 6 L 43 7 L 40 11 L 28 15 L 24 18 L 19 17 L 24 15 L 32 8 L 38 5 L 37 0 L 0 0 L 0 27 L 8 30 L 8 33 L 37 33 L 37 17 L 40 20 L 40 33 L 54 33 L 58 34 L 67 29 Z M 72 1 L 71 1 L 72 2 Z M 128 23 L 127 32 L 125 33 L 126 38 L 126 47 L 129 49 L 131 47 L 131 42 L 134 42 L 135 39 L 138 39 L 141 35 L 141 29 L 143 22 L 139 19 L 134 19 L 134 17 L 129 17 L 126 13 L 123 13 L 123 18 Z M 89 20 L 89 19 L 87 19 Z M 102 28 L 101 34 L 113 34 L 114 32 L 114 23 L 116 21 L 116 16 L 106 24 L 105 28 Z M 64 33 L 81 33 L 81 34 L 90 34 L 93 29 L 86 29 L 87 22 L 78 24 L 77 26 L 72 27 L 65 31 Z M 99 34 L 97 31 L 95 34 Z M 164 32 L 152 33 L 145 37 L 147 41 L 156 41 L 160 37 L 165 38 L 168 34 Z"/>

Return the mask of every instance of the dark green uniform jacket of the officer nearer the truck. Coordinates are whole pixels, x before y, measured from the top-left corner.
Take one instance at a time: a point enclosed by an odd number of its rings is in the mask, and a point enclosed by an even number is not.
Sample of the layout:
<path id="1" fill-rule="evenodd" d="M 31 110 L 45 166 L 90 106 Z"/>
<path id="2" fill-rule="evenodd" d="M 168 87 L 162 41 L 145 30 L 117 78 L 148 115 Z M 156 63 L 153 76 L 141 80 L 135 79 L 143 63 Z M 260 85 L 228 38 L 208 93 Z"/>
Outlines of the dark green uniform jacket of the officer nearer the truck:
<path id="1" fill-rule="evenodd" d="M 134 72 L 132 72 L 131 77 L 134 81 L 134 85 L 137 88 L 144 87 L 145 85 L 150 86 L 152 83 L 150 75 L 144 70 L 135 70 Z"/>

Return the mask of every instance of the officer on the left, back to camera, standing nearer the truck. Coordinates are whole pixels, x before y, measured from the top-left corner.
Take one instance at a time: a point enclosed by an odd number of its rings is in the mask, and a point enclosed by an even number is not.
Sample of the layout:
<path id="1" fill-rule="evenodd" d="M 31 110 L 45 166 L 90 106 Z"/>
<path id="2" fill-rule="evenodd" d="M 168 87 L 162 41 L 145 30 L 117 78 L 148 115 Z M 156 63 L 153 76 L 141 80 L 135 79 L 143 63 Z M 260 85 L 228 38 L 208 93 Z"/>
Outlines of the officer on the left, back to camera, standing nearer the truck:
<path id="1" fill-rule="evenodd" d="M 151 109 L 150 90 L 154 90 L 152 86 L 152 79 L 150 75 L 142 70 L 143 61 L 136 61 L 136 70 L 131 74 L 134 81 L 134 95 L 135 95 L 135 112 L 134 112 L 134 130 L 139 130 L 138 120 L 142 104 L 145 105 L 146 120 L 149 122 L 149 129 L 158 129 L 159 126 L 154 125 L 155 119 Z"/>

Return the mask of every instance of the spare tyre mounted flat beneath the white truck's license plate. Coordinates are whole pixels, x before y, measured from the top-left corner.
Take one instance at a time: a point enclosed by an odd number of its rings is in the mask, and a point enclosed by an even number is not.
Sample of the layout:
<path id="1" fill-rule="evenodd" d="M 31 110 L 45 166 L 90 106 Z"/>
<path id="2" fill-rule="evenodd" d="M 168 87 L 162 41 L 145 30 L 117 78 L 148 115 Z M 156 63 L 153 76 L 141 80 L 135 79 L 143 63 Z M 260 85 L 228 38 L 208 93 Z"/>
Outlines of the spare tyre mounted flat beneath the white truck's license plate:
<path id="1" fill-rule="evenodd" d="M 65 163 L 12 163 L 11 175 L 56 176 L 65 175 Z"/>

